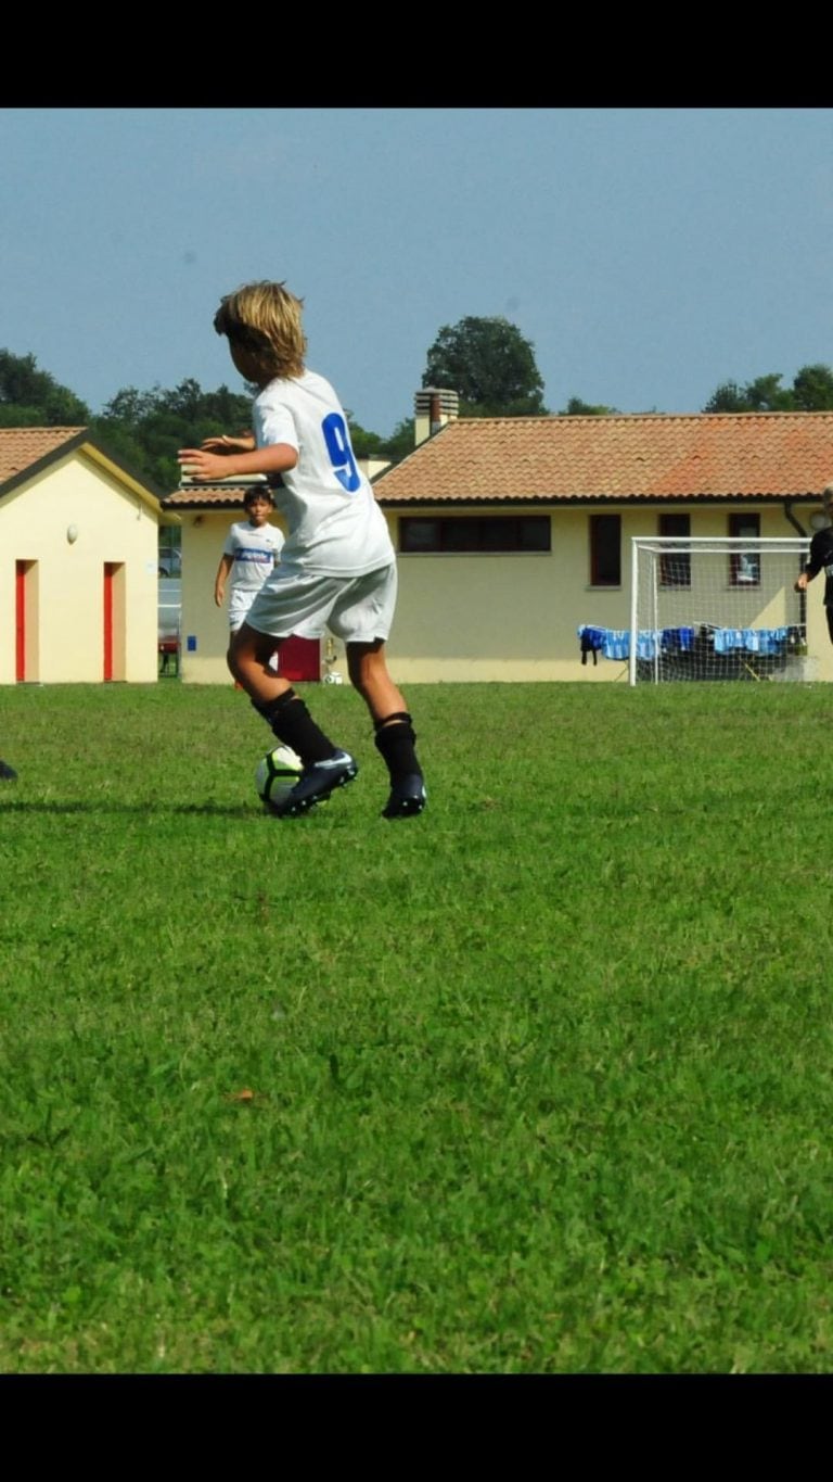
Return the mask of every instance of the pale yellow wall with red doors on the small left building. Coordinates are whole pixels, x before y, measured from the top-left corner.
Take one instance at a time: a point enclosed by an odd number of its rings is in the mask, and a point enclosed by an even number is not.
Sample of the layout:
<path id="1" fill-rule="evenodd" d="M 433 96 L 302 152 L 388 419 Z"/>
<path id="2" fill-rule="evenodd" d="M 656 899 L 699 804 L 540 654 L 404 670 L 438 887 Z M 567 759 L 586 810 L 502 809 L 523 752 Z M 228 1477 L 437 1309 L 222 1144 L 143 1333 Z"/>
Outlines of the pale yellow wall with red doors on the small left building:
<path id="1" fill-rule="evenodd" d="M 74 526 L 74 541 L 67 536 Z M 158 519 L 132 491 L 72 453 L 0 502 L 0 685 L 16 682 L 16 562 L 33 562 L 27 679 L 104 679 L 104 566 L 114 578 L 114 677 L 157 677 Z"/>

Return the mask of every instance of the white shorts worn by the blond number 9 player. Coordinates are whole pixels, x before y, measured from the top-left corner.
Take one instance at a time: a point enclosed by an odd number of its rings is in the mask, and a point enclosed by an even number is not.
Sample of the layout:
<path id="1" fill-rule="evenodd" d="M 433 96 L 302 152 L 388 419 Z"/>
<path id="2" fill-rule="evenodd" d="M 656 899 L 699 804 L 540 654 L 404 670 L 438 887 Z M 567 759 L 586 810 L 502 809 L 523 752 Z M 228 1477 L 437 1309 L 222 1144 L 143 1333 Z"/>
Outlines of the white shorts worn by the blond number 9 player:
<path id="1" fill-rule="evenodd" d="M 246 617 L 250 628 L 275 639 L 324 637 L 343 643 L 388 639 L 397 608 L 397 563 L 362 576 L 323 576 L 275 566 Z"/>

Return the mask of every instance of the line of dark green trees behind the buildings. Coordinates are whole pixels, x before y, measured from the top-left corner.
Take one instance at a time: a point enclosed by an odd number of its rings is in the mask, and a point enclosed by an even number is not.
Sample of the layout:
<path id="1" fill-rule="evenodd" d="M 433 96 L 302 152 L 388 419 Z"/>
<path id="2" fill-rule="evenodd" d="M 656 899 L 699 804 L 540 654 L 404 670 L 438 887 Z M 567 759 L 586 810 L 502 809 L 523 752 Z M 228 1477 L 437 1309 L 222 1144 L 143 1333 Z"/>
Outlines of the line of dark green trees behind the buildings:
<path id="1" fill-rule="evenodd" d="M 543 400 L 534 345 L 503 317 L 473 317 L 444 325 L 426 357 L 423 387 L 457 391 L 462 416 L 605 416 L 616 406 L 570 397 L 561 412 Z M 219 430 L 250 425 L 252 396 L 226 385 L 204 391 L 186 379 L 172 390 L 123 387 L 92 413 L 89 406 L 36 357 L 0 350 L 0 427 L 87 427 L 114 458 L 160 491 L 179 482 L 179 448 L 197 448 Z M 655 411 L 655 409 L 652 409 Z M 829 412 L 833 411 L 833 368 L 806 365 L 792 385 L 769 373 L 740 384 L 724 381 L 703 412 Z M 368 431 L 348 411 L 357 458 L 399 462 L 414 446 L 414 419 L 402 418 L 389 437 Z"/>

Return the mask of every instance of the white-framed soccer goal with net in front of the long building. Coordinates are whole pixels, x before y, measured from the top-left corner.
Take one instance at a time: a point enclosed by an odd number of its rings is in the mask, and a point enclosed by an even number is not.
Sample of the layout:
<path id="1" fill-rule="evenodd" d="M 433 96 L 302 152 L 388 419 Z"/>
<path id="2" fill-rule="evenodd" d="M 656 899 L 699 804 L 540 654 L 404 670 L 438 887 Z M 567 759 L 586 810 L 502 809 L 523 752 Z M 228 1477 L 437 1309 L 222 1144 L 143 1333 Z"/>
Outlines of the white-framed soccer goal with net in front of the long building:
<path id="1" fill-rule="evenodd" d="M 809 539 L 633 536 L 629 680 L 802 679 Z"/>

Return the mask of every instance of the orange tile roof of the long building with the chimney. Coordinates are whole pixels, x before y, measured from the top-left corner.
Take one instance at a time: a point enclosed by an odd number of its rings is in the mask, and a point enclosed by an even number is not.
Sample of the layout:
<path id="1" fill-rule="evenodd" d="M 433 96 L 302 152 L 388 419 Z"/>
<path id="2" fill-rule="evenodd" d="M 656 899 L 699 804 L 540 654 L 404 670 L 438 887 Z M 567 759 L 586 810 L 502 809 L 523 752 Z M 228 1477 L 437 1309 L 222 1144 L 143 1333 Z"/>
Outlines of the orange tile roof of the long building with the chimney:
<path id="1" fill-rule="evenodd" d="M 818 498 L 833 412 L 459 418 L 373 480 L 380 504 Z"/>

